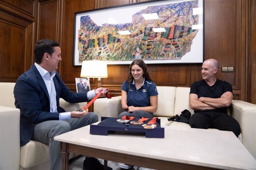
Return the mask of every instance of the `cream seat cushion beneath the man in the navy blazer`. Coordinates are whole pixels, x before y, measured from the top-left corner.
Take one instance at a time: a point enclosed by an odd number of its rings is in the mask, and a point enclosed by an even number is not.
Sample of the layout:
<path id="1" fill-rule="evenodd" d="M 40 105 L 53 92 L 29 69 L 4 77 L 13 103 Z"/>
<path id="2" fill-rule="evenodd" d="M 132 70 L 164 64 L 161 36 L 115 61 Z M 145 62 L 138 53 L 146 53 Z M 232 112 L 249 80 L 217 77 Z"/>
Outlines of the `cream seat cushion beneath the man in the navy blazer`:
<path id="1" fill-rule="evenodd" d="M 49 147 L 46 144 L 30 140 L 20 147 L 20 166 L 29 168 L 49 160 Z"/>

